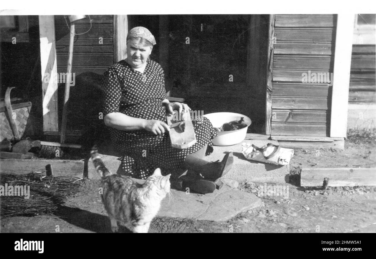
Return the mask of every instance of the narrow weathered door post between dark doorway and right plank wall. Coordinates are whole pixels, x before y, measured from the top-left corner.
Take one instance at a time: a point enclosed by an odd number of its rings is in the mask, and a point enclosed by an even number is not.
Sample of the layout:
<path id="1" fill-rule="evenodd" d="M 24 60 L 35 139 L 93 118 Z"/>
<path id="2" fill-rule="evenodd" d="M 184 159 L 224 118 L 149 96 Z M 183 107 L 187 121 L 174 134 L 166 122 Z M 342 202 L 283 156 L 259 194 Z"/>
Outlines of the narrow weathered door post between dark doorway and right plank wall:
<path id="1" fill-rule="evenodd" d="M 273 91 L 273 56 L 274 56 L 274 22 L 275 15 L 271 14 L 269 19 L 268 34 L 268 65 L 267 65 L 267 85 L 266 85 L 266 119 L 265 134 L 271 135 L 271 98 Z"/>

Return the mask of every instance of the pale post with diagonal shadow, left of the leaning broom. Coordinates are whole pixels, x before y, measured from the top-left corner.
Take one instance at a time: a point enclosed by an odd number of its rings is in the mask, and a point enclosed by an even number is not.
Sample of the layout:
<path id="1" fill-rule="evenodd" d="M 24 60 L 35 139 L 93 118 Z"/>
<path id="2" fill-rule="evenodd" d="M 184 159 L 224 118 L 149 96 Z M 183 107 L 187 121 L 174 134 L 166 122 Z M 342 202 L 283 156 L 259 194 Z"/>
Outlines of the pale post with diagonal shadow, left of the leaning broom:
<path id="1" fill-rule="evenodd" d="M 58 78 L 53 15 L 39 15 L 43 132 L 58 132 Z"/>

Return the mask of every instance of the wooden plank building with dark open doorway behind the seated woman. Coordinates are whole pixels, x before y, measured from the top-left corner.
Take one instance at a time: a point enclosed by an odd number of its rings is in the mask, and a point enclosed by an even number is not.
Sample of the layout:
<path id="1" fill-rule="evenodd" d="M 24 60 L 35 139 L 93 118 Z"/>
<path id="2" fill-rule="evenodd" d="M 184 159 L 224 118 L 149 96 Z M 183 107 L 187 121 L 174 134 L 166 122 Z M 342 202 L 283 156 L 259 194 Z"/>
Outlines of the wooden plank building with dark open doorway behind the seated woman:
<path id="1" fill-rule="evenodd" d="M 202 100 L 221 100 L 222 110 L 206 110 L 241 112 L 252 118 L 252 133 L 270 136 L 286 147 L 343 148 L 348 104 L 375 105 L 374 42 L 353 45 L 356 23 L 353 15 L 345 14 L 90 15 L 76 22 L 73 67 L 82 88 L 73 89 L 73 101 L 99 98 L 100 76 L 124 59 L 127 30 L 145 26 L 156 36 L 153 59 L 164 68 L 166 88 L 174 97 L 185 98 L 183 92 L 192 90 Z M 46 83 L 43 77 L 66 70 L 66 19 L 39 16 L 39 34 L 43 132 L 58 135 L 58 78 Z M 230 45 L 225 45 L 229 39 Z M 213 49 L 208 44 L 217 45 Z M 187 71 L 191 72 L 177 78 Z M 215 71 L 224 75 L 212 79 L 208 74 Z M 238 81 L 230 84 L 229 74 Z M 179 88 L 180 81 L 185 82 Z M 236 107 L 225 106 L 236 101 Z M 85 111 L 90 120 L 100 113 L 99 108 L 84 107 L 72 116 Z M 69 134 L 82 134 L 87 123 L 82 124 Z"/>

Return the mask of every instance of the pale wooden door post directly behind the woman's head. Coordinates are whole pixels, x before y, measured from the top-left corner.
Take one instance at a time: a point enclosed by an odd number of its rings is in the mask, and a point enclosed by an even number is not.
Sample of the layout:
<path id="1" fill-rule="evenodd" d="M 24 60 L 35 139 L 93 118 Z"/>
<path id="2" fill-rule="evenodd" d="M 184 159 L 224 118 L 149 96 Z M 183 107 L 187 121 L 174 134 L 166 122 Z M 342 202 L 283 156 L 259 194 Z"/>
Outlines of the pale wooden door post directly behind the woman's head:
<path id="1" fill-rule="evenodd" d="M 126 58 L 128 16 L 114 15 L 114 63 Z"/>

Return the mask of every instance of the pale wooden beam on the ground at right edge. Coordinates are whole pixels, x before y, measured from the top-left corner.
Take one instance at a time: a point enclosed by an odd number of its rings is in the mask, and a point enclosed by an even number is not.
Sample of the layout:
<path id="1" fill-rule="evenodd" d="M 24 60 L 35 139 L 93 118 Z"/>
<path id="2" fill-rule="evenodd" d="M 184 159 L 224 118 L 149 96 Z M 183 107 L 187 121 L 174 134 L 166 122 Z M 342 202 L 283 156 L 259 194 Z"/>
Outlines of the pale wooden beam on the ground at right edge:
<path id="1" fill-rule="evenodd" d="M 322 186 L 329 177 L 328 186 L 376 186 L 376 168 L 303 168 L 300 186 Z"/>

